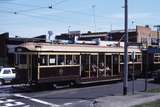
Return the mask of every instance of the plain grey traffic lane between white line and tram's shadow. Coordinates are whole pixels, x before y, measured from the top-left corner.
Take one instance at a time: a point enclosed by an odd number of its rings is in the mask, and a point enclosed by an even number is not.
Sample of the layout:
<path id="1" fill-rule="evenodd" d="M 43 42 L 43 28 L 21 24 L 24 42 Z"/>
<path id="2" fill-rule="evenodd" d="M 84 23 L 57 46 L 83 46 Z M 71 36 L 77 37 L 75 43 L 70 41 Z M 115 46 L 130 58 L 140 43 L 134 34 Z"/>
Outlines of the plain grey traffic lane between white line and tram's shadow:
<path id="1" fill-rule="evenodd" d="M 135 81 L 135 91 L 144 91 L 144 80 Z M 158 88 L 159 84 L 149 82 L 148 89 Z M 50 90 L 43 92 L 23 93 L 26 96 L 38 98 L 55 104 L 64 104 L 78 101 L 93 101 L 99 97 L 122 95 L 123 83 L 105 84 L 100 86 L 89 86 L 75 89 Z M 129 93 L 132 92 L 132 81 L 128 84 Z"/>

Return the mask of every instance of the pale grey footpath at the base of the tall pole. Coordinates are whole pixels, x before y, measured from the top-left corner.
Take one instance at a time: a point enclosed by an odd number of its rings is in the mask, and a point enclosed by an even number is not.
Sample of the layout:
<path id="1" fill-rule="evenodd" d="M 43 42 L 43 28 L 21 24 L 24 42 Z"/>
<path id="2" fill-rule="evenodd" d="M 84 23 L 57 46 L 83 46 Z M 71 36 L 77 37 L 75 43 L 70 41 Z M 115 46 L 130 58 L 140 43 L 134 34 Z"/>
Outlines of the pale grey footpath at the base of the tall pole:
<path id="1" fill-rule="evenodd" d="M 160 100 L 160 93 L 138 92 L 134 95 L 98 98 L 93 102 L 93 107 L 132 107 L 156 100 Z"/>

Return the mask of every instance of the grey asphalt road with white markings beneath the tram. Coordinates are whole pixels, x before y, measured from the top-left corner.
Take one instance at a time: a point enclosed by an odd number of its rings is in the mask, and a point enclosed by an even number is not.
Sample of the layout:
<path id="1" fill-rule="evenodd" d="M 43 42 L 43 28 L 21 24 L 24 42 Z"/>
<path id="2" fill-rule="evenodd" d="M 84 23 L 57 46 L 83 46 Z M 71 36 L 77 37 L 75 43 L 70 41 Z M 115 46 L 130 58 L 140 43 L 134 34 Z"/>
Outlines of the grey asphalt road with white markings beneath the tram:
<path id="1" fill-rule="evenodd" d="M 144 80 L 135 81 L 135 90 L 144 91 Z M 31 89 L 25 87 L 0 88 L 0 106 L 5 107 L 92 107 L 94 100 L 105 96 L 122 95 L 123 83 L 82 85 L 79 88 Z M 160 84 L 148 82 L 148 89 L 160 88 Z M 132 81 L 128 84 L 132 92 Z"/>

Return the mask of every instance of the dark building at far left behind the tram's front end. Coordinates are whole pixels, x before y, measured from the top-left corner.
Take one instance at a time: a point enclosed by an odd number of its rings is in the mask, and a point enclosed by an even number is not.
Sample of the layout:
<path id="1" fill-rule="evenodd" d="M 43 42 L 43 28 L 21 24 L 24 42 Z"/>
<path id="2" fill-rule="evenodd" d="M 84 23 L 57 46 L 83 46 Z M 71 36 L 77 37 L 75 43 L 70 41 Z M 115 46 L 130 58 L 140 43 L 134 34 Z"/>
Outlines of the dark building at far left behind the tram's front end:
<path id="1" fill-rule="evenodd" d="M 26 42 L 46 42 L 46 35 L 22 38 L 9 37 L 9 33 L 0 34 L 0 66 L 15 66 L 15 47 Z"/>

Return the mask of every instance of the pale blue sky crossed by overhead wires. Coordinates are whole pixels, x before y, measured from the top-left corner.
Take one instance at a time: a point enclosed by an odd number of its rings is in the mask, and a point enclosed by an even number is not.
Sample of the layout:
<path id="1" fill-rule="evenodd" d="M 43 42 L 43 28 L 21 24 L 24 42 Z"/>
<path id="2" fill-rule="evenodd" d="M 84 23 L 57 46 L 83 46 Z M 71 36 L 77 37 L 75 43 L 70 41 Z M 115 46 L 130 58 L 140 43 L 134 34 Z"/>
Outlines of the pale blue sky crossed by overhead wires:
<path id="1" fill-rule="evenodd" d="M 160 24 L 160 0 L 128 0 L 129 28 Z M 52 8 L 49 8 L 51 7 Z M 124 0 L 0 0 L 0 33 L 11 37 L 124 28 Z"/>

